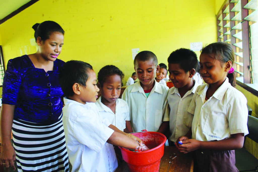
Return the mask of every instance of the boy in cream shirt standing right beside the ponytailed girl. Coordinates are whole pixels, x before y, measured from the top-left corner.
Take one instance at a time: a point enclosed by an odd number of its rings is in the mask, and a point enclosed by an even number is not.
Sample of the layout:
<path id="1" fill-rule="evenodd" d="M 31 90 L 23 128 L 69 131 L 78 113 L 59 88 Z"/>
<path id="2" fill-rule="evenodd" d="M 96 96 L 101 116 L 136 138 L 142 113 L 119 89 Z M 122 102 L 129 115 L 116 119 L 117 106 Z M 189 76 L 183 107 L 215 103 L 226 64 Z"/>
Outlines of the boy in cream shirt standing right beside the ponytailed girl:
<path id="1" fill-rule="evenodd" d="M 168 91 L 165 114 L 169 114 L 170 145 L 174 145 L 176 140 L 185 135 L 192 126 L 193 115 L 187 110 L 199 85 L 192 79 L 198 60 L 195 52 L 180 48 L 173 51 L 167 61 L 169 78 L 174 87 Z"/>

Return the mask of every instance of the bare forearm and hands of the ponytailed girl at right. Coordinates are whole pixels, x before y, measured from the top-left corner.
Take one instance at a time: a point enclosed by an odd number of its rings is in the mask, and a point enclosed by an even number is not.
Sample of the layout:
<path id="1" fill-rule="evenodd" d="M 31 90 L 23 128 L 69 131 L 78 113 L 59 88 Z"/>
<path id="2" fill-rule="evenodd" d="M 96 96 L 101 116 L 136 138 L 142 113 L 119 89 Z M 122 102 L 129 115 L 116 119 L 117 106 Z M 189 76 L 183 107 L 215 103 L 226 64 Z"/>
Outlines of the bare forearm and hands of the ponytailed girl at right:
<path id="1" fill-rule="evenodd" d="M 183 144 L 176 144 L 176 147 L 183 153 L 192 152 L 197 149 L 235 150 L 243 147 L 244 133 L 232 134 L 230 138 L 220 141 L 198 141 L 195 139 L 188 139 L 181 142 Z"/>

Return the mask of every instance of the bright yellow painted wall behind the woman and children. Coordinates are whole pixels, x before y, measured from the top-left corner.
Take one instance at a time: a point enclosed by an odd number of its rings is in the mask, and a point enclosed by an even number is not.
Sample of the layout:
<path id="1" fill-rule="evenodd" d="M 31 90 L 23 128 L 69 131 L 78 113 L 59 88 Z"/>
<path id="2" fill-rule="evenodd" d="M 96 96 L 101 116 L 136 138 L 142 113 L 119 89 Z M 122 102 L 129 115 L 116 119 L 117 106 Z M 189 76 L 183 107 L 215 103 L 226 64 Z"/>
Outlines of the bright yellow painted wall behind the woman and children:
<path id="1" fill-rule="evenodd" d="M 66 32 L 61 60 L 83 60 L 96 72 L 116 65 L 125 73 L 125 84 L 134 72 L 132 48 L 152 51 L 167 64 L 177 48 L 216 41 L 214 14 L 215 0 L 40 0 L 0 25 L 4 61 L 35 53 L 31 27 L 53 20 Z"/>

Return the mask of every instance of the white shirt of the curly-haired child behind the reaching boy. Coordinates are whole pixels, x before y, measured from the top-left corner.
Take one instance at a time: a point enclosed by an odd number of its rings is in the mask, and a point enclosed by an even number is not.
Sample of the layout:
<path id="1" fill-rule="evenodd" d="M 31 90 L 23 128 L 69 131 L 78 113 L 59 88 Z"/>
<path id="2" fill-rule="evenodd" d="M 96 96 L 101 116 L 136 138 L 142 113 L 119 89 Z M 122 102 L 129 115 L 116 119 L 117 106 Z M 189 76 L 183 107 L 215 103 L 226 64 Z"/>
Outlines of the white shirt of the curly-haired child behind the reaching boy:
<path id="1" fill-rule="evenodd" d="M 108 121 L 116 126 L 119 130 L 124 131 L 125 121 L 130 121 L 129 107 L 127 103 L 122 99 L 116 100 L 115 113 L 101 102 L 101 97 L 96 101 L 96 105 L 99 109 L 101 119 L 108 119 Z"/>

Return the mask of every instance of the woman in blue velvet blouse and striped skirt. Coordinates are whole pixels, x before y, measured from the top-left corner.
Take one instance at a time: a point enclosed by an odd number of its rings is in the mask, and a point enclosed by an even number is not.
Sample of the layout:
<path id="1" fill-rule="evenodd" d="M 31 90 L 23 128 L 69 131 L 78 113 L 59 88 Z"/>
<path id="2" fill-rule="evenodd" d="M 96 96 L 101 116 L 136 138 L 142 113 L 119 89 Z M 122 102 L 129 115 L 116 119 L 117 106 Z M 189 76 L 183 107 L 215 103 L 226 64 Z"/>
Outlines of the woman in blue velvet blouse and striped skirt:
<path id="1" fill-rule="evenodd" d="M 53 21 L 32 28 L 37 52 L 9 60 L 4 76 L 0 164 L 15 169 L 16 159 L 18 171 L 69 171 L 58 82 L 64 62 L 57 59 L 65 32 Z"/>

